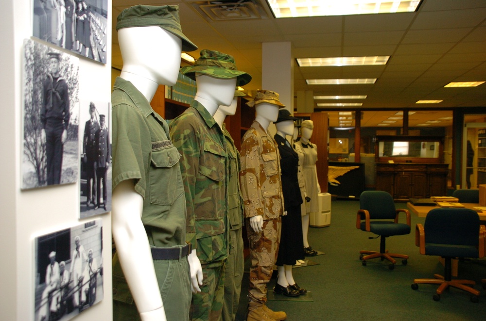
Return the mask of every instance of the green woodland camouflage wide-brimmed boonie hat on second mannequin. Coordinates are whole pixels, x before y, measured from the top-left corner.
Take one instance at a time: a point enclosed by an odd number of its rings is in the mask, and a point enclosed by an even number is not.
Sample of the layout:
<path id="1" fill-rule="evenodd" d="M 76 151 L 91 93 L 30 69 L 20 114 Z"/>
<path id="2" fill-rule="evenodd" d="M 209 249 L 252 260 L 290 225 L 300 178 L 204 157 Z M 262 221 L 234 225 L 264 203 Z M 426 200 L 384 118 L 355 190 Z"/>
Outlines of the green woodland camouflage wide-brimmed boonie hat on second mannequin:
<path id="1" fill-rule="evenodd" d="M 236 68 L 233 56 L 216 50 L 203 49 L 193 66 L 182 67 L 181 73 L 196 80 L 196 72 L 215 78 L 230 79 L 236 77 L 236 85 L 244 86 L 251 81 L 250 74 Z"/>

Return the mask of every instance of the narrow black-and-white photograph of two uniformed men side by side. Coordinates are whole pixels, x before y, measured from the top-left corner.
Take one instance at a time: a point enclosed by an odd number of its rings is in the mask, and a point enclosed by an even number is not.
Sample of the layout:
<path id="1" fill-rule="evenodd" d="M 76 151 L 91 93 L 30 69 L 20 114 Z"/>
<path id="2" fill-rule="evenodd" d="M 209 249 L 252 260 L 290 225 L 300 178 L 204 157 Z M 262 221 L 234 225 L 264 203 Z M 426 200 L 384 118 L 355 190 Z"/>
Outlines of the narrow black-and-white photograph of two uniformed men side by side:
<path id="1" fill-rule="evenodd" d="M 111 210 L 111 107 L 109 102 L 81 99 L 80 218 Z"/>

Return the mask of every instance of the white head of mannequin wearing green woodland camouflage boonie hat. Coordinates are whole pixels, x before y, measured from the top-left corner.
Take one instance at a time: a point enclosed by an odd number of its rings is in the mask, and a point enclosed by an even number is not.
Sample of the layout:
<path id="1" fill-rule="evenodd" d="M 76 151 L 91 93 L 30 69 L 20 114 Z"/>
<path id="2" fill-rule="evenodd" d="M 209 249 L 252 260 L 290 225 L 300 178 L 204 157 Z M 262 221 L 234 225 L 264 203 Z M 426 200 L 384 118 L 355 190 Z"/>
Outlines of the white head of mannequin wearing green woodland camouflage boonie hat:
<path id="1" fill-rule="evenodd" d="M 219 106 L 229 106 L 233 102 L 236 77 L 223 79 L 196 72 L 196 86 L 194 99 L 213 116 Z"/>

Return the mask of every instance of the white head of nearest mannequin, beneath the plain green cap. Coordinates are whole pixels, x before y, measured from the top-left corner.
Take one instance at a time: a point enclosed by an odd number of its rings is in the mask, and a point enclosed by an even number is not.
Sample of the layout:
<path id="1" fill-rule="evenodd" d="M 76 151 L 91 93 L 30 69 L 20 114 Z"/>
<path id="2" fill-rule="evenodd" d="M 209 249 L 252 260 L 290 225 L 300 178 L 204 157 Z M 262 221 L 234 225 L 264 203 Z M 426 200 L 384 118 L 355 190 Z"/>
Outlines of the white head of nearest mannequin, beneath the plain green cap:
<path id="1" fill-rule="evenodd" d="M 159 26 L 118 31 L 123 73 L 172 86 L 179 74 L 182 39 Z M 123 78 L 123 77 L 122 77 Z"/>

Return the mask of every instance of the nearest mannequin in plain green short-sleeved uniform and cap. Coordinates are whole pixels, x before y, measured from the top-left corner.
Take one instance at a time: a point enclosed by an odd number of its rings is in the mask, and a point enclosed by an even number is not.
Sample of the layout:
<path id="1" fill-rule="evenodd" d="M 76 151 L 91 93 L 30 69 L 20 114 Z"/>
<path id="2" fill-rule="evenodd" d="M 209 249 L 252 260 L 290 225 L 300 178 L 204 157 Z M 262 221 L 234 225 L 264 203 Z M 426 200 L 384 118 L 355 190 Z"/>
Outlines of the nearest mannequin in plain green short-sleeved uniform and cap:
<path id="1" fill-rule="evenodd" d="M 177 193 L 180 191 L 180 195 L 182 195 L 183 188 L 179 167 L 149 169 L 149 173 L 157 173 L 159 178 L 175 178 L 171 186 L 163 186 L 162 191 L 158 191 L 145 183 L 145 170 L 137 167 L 137 160 L 131 160 L 132 162 L 128 163 L 127 159 L 132 156 L 130 152 L 137 153 L 137 147 L 142 150 L 144 147 L 148 148 L 147 152 L 140 151 L 137 154 L 155 155 L 155 150 L 152 150 L 154 142 L 151 141 L 151 137 L 155 134 L 154 131 L 157 131 L 158 138 L 165 136 L 165 140 L 160 142 L 165 142 L 164 146 L 158 148 L 158 150 L 166 152 L 166 155 L 177 153 L 166 135 L 168 134 L 168 127 L 165 120 L 152 111 L 148 102 L 154 96 L 159 84 L 175 84 L 182 48 L 194 50 L 197 47 L 181 31 L 180 34 L 175 34 L 162 29 L 158 25 L 151 25 L 154 19 L 148 21 L 148 19 L 138 16 L 144 22 L 142 26 L 137 27 L 133 27 L 130 22 L 126 23 L 127 20 L 123 20 L 126 16 L 139 15 L 140 7 L 145 9 L 145 13 L 148 12 L 144 17 L 157 17 L 156 12 L 159 11 L 167 12 L 168 15 L 172 14 L 172 18 L 166 17 L 165 19 L 173 20 L 174 24 L 180 26 L 178 24 L 177 6 L 135 6 L 132 7 L 135 10 L 132 8 L 125 9 L 117 19 L 117 30 L 120 29 L 118 38 L 124 65 L 120 78 L 117 78 L 115 82 L 112 94 L 114 176 L 112 231 L 117 246 L 113 264 L 114 317 L 117 320 L 135 320 L 138 318 L 144 321 L 167 320 L 166 313 L 168 313 L 167 318 L 169 319 L 175 317 L 180 320 L 187 320 L 191 300 L 191 280 L 187 277 L 189 273 L 188 261 L 185 256 L 181 256 L 184 249 L 186 255 L 189 250 L 189 246 L 183 245 L 185 238 L 182 224 L 185 221 L 184 203 L 178 201 L 177 198 L 173 200 L 169 208 L 152 203 L 153 198 L 158 200 L 165 196 L 165 189 Z M 132 97 L 136 97 L 134 98 L 136 100 L 131 100 Z M 149 113 L 144 113 L 144 117 L 141 116 L 142 111 Z M 130 131 L 127 131 L 128 127 L 130 127 Z M 135 145 L 131 145 L 130 137 L 126 135 L 136 131 L 143 135 L 137 137 Z M 121 147 L 122 145 L 124 148 Z M 144 162 L 142 161 L 142 163 Z M 128 168 L 128 166 L 135 166 L 137 169 L 132 170 L 132 167 Z M 144 194 L 145 197 L 143 197 Z M 173 195 L 176 195 L 176 193 L 173 193 Z M 164 220 L 154 220 L 154 217 L 150 217 L 153 214 L 149 210 L 165 212 Z M 147 216 L 149 216 L 148 220 Z M 168 229 L 173 232 L 172 235 L 168 235 L 168 232 L 161 233 L 160 228 L 157 227 L 167 224 L 170 224 Z M 150 240 L 147 236 L 149 232 L 151 233 Z M 167 246 L 164 246 L 164 243 Z M 165 271 L 164 266 L 167 261 L 175 258 L 154 260 L 154 252 L 151 253 L 154 248 L 164 253 L 168 253 L 172 248 L 178 251 L 179 255 L 176 260 L 180 262 L 179 267 L 176 267 L 175 271 L 171 268 Z M 171 275 L 174 273 L 174 281 L 178 282 L 180 287 L 169 285 L 169 289 L 162 289 L 162 286 L 165 285 L 166 273 L 171 273 Z M 195 273 L 191 271 L 192 274 Z M 133 312 L 134 305 L 124 305 L 116 299 L 117 293 L 123 296 L 125 303 L 126 298 L 130 297 L 129 294 L 121 294 L 122 290 L 126 289 L 126 286 L 122 286 L 123 276 L 135 300 L 139 316 L 136 312 Z M 192 283 L 194 283 L 194 280 L 192 280 Z M 165 291 L 166 299 L 164 299 L 164 302 L 167 300 L 166 305 L 162 303 L 162 290 Z M 178 297 L 177 300 L 172 298 L 174 296 Z M 116 316 L 115 313 L 117 313 Z"/>

